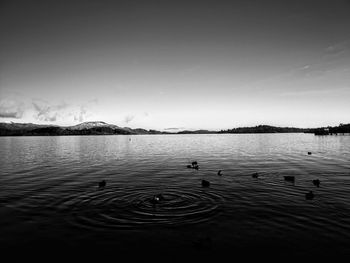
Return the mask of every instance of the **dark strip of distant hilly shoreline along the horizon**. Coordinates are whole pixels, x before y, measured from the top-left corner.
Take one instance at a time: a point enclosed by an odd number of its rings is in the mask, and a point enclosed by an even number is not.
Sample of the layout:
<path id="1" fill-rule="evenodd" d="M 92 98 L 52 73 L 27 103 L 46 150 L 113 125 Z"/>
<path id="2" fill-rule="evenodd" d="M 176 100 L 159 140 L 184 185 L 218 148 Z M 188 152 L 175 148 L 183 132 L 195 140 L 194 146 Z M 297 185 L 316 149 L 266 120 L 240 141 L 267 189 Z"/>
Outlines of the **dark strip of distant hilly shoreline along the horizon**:
<path id="1" fill-rule="evenodd" d="M 0 123 L 0 136 L 59 136 L 59 135 L 143 135 L 143 134 L 244 134 L 244 133 L 314 133 L 315 135 L 328 135 L 350 133 L 350 124 L 340 124 L 335 127 L 320 128 L 293 128 L 258 125 L 254 127 L 239 127 L 228 130 L 209 131 L 179 131 L 164 132 L 119 127 L 103 121 L 83 122 L 74 126 L 42 125 L 33 123 Z"/>

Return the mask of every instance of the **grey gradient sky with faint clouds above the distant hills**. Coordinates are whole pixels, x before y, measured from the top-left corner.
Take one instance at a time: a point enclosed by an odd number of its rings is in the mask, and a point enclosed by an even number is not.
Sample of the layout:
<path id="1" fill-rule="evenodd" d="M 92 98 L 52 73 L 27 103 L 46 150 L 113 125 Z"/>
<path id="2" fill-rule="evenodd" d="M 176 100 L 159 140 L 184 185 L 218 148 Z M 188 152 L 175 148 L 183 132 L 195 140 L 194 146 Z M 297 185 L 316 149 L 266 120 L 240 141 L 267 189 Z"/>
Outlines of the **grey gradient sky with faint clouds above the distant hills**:
<path id="1" fill-rule="evenodd" d="M 350 1 L 0 3 L 0 122 L 350 123 Z"/>

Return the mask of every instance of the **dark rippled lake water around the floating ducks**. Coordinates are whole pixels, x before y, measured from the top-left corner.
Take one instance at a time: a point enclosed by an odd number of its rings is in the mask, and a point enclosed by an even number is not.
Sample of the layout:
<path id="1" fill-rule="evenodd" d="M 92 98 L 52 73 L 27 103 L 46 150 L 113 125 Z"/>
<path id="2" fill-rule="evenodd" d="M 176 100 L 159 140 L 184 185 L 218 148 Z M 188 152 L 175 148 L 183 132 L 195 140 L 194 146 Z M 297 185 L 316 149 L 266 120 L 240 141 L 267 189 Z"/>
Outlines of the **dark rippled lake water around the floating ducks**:
<path id="1" fill-rule="evenodd" d="M 0 156 L 7 249 L 349 255 L 350 136 L 1 137 Z"/>

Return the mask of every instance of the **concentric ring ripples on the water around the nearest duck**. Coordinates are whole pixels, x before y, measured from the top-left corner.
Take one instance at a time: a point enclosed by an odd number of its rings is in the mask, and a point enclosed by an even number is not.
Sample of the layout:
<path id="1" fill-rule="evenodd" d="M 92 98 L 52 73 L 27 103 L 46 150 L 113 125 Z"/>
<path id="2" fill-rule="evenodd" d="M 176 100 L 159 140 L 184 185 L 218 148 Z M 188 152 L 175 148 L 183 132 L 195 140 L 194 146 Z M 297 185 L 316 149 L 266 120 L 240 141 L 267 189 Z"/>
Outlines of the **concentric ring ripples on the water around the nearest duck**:
<path id="1" fill-rule="evenodd" d="M 87 228 L 135 228 L 197 224 L 219 214 L 222 196 L 212 189 L 170 187 L 164 200 L 151 202 L 154 186 L 106 187 L 65 200 L 60 207 L 70 223 Z"/>

